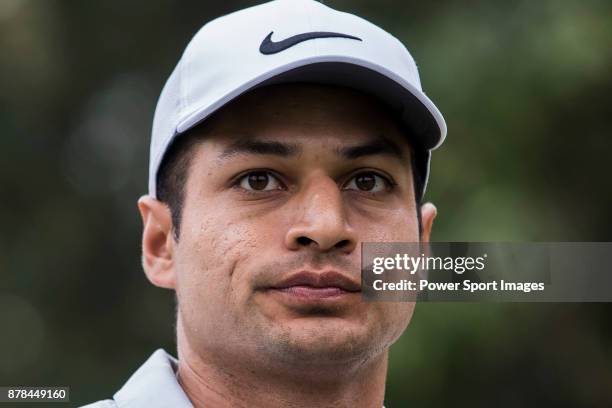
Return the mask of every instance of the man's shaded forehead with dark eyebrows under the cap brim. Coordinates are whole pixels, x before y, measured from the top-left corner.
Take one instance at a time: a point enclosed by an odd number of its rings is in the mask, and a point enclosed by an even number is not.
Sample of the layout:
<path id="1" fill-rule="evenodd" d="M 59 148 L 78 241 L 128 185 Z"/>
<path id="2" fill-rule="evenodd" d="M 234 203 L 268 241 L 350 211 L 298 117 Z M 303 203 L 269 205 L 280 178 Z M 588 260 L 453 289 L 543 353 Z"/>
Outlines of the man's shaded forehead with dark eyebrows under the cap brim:
<path id="1" fill-rule="evenodd" d="M 406 130 L 376 98 L 352 89 L 280 84 L 239 97 L 210 118 L 206 139 L 219 161 L 250 155 L 338 158 L 386 155 L 410 162 Z M 210 146 L 210 144 L 209 144 Z"/>

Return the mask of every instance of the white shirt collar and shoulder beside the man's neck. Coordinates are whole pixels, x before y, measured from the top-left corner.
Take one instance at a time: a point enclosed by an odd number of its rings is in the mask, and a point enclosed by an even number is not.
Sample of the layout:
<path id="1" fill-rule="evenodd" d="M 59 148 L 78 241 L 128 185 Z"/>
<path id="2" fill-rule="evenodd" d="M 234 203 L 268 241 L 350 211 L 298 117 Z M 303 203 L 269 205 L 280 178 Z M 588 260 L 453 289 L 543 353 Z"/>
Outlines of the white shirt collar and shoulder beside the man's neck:
<path id="1" fill-rule="evenodd" d="M 163 349 L 156 350 L 113 395 L 82 408 L 193 408 L 176 379 L 178 361 Z"/>

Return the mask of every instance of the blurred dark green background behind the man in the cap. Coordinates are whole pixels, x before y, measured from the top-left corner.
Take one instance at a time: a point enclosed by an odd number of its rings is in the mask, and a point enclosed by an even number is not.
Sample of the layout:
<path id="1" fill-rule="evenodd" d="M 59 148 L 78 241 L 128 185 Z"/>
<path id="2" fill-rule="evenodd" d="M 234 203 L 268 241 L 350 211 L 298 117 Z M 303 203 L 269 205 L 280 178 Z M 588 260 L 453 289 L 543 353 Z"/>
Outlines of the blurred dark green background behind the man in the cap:
<path id="1" fill-rule="evenodd" d="M 140 267 L 153 110 L 195 31 L 255 3 L 0 0 L 0 385 L 84 403 L 175 352 Z M 612 241 L 612 2 L 325 3 L 399 37 L 446 117 L 434 240 Z M 611 312 L 421 304 L 386 404 L 612 406 Z"/>

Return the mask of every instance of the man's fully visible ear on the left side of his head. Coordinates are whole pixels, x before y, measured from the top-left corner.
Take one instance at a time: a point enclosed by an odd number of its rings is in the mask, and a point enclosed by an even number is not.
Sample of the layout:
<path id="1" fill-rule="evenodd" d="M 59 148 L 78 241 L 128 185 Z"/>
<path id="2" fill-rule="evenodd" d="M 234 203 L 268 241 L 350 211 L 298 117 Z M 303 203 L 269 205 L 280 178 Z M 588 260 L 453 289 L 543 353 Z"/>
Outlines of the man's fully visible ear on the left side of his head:
<path id="1" fill-rule="evenodd" d="M 174 253 L 176 242 L 170 208 L 150 196 L 138 200 L 142 216 L 142 267 L 149 281 L 167 289 L 176 287 Z"/>

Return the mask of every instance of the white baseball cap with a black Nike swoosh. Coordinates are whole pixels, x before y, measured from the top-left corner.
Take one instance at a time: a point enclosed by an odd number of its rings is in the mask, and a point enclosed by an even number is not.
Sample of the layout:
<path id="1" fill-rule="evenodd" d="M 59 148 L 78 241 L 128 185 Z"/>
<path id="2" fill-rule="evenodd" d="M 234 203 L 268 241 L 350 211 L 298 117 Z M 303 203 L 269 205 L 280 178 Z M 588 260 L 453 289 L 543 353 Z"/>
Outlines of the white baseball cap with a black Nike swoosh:
<path id="1" fill-rule="evenodd" d="M 386 102 L 410 129 L 427 183 L 430 150 L 444 141 L 446 123 L 404 45 L 317 1 L 275 0 L 210 21 L 187 45 L 155 109 L 149 195 L 156 197 L 157 172 L 177 136 L 249 90 L 289 82 L 346 86 Z"/>

